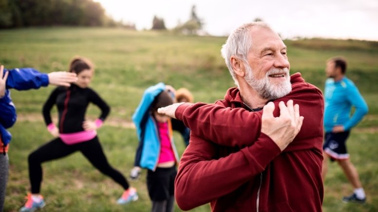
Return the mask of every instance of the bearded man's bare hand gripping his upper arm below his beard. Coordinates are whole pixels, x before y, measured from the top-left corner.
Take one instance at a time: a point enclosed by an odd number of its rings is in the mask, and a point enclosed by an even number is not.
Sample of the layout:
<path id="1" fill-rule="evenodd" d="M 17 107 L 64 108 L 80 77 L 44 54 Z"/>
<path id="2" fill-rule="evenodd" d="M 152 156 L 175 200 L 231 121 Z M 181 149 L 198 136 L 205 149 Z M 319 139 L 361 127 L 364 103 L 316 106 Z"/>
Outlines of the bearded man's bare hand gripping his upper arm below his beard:
<path id="1" fill-rule="evenodd" d="M 303 116 L 299 114 L 299 105 L 293 106 L 293 100 L 279 103 L 280 116 L 274 117 L 274 103 L 264 106 L 261 132 L 269 136 L 283 151 L 299 133 L 303 123 Z"/>

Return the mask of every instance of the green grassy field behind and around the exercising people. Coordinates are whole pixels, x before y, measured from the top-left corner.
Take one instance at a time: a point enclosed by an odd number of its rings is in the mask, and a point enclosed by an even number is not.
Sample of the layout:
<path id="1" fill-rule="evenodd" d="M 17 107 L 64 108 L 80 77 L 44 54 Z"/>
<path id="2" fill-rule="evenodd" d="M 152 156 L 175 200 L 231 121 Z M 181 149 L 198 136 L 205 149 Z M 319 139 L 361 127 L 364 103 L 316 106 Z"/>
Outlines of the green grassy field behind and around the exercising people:
<path id="1" fill-rule="evenodd" d="M 137 146 L 136 133 L 129 127 L 143 91 L 158 82 L 192 91 L 196 102 L 212 103 L 223 98 L 233 81 L 220 55 L 226 37 L 197 37 L 164 32 L 134 32 L 103 28 L 31 28 L 0 31 L 0 62 L 6 68 L 34 67 L 43 72 L 66 71 L 75 55 L 95 63 L 92 88 L 112 106 L 112 113 L 98 131 L 110 163 L 128 176 Z M 323 89 L 325 60 L 343 55 L 349 62 L 348 77 L 359 87 L 369 105 L 369 114 L 352 131 L 348 141 L 368 195 L 367 204 L 344 204 L 343 195 L 352 191 L 337 164 L 330 164 L 325 180 L 323 209 L 333 211 L 378 211 L 378 42 L 355 40 L 287 40 L 291 73 L 300 71 L 310 83 Z M 10 176 L 4 211 L 18 211 L 29 191 L 27 156 L 52 139 L 45 130 L 41 106 L 53 87 L 12 91 L 18 122 L 10 129 Z M 54 112 L 55 114 L 56 112 Z M 91 106 L 88 116 L 98 109 Z M 174 134 L 179 154 L 184 151 L 179 134 Z M 145 185 L 146 172 L 137 182 L 140 199 L 126 206 L 115 204 L 120 186 L 95 170 L 80 154 L 43 165 L 41 193 L 46 207 L 41 211 L 132 211 L 146 212 L 151 203 Z M 374 177 L 375 176 L 375 177 Z M 176 207 L 176 211 L 180 211 Z M 192 210 L 208 212 L 205 205 Z"/>

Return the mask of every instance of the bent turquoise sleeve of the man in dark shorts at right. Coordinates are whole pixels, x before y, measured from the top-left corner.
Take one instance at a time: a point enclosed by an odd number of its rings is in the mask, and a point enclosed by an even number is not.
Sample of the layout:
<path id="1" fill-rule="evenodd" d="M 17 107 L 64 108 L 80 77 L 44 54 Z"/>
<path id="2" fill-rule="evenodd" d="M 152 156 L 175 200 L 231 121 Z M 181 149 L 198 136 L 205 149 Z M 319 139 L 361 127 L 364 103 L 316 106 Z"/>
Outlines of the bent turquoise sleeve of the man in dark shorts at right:
<path id="1" fill-rule="evenodd" d="M 350 130 L 357 125 L 368 112 L 367 104 L 354 84 L 348 86 L 347 101 L 355 107 L 355 111 L 349 121 L 344 124 L 344 130 Z"/>

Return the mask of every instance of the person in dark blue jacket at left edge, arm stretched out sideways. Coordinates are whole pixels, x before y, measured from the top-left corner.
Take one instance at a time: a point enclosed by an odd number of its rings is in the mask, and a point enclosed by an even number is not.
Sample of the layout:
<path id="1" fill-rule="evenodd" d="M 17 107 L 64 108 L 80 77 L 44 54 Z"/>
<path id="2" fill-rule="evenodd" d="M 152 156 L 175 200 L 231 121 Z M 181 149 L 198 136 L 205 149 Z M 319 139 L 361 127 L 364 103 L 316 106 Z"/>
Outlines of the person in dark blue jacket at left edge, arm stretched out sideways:
<path id="1" fill-rule="evenodd" d="M 76 82 L 75 73 L 56 71 L 41 73 L 32 68 L 7 70 L 0 66 L 0 211 L 3 211 L 5 188 L 8 179 L 8 148 L 12 135 L 7 128 L 13 126 L 17 119 L 16 107 L 10 96 L 11 88 L 17 90 L 38 89 L 50 85 L 70 86 Z"/>

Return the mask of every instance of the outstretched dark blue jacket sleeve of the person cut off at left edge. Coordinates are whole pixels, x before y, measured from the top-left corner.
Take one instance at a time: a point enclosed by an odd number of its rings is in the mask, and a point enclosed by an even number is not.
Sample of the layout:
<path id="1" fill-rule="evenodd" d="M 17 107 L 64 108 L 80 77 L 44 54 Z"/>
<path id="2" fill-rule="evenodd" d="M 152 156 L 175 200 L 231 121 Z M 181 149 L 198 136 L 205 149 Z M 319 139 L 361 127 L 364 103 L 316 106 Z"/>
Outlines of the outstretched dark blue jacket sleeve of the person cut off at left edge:
<path id="1" fill-rule="evenodd" d="M 4 74 L 6 71 L 9 72 L 6 88 L 28 90 L 32 88 L 38 89 L 49 85 L 48 75 L 32 68 L 4 69 Z"/>

